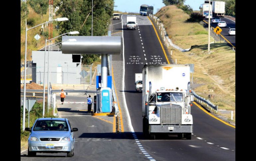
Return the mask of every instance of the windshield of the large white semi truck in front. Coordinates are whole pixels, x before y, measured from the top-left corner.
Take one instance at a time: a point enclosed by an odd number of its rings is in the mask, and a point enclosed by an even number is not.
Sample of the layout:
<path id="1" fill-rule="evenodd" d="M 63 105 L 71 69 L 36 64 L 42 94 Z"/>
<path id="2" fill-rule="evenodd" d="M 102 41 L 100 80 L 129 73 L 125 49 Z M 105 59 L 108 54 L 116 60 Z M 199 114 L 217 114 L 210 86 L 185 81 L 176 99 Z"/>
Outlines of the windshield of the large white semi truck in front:
<path id="1" fill-rule="evenodd" d="M 158 93 L 157 101 L 158 102 L 182 102 L 183 94 L 174 93 L 174 92 Z"/>

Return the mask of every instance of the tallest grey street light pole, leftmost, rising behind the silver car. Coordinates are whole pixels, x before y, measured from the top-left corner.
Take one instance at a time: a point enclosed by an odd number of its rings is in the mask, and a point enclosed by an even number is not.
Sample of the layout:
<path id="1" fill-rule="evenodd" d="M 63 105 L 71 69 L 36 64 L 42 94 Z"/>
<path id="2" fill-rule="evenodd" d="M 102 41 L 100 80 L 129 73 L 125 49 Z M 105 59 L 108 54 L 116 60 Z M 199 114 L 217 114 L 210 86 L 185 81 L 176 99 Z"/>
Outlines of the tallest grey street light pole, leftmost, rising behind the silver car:
<path id="1" fill-rule="evenodd" d="M 41 26 L 41 25 L 43 25 L 43 24 L 46 24 L 46 23 L 49 23 L 49 22 L 51 22 L 51 21 L 68 21 L 68 19 L 67 18 L 57 18 L 57 19 L 54 19 L 54 20 L 50 20 L 50 21 L 47 21 L 47 22 L 45 22 L 45 23 L 42 23 L 42 24 L 40 24 L 40 25 L 37 25 L 37 26 L 35 26 L 35 27 L 32 27 L 32 28 L 29 28 L 28 29 L 28 27 L 27 27 L 27 25 L 26 25 L 26 36 L 25 36 L 25 66 L 24 66 L 24 87 L 23 87 L 23 89 L 24 89 L 24 91 L 23 91 L 23 122 L 22 122 L 22 130 L 24 131 L 25 130 L 25 115 L 26 115 L 26 102 L 25 102 L 25 100 L 26 100 L 26 68 L 27 68 L 27 64 L 26 64 L 26 61 L 27 61 L 27 33 L 28 33 L 28 31 L 29 30 L 31 30 L 31 29 L 34 29 L 34 28 L 36 28 L 36 27 L 38 27 L 38 26 Z M 44 87 L 45 88 L 45 87 Z M 44 111 L 44 109 L 43 109 L 43 111 Z"/>

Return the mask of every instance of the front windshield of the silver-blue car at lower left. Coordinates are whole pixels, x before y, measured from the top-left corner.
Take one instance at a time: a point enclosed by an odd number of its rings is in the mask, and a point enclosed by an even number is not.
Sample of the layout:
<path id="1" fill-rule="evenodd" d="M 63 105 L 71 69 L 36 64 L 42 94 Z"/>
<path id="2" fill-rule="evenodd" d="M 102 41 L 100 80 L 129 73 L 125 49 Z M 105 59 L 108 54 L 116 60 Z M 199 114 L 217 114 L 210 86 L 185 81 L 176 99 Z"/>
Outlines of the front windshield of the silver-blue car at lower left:
<path id="1" fill-rule="evenodd" d="M 39 120 L 36 122 L 34 131 L 68 131 L 66 121 Z"/>

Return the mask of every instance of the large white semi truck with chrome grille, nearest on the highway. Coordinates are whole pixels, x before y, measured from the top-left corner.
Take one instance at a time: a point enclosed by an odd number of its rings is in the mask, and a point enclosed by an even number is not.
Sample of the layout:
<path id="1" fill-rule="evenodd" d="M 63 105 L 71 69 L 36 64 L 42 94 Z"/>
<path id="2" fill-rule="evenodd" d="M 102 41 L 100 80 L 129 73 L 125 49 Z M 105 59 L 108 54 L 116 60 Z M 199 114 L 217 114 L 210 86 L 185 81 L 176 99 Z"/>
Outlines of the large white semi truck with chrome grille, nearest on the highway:
<path id="1" fill-rule="evenodd" d="M 191 139 L 193 118 L 189 64 L 144 65 L 142 69 L 143 133 L 177 134 Z"/>

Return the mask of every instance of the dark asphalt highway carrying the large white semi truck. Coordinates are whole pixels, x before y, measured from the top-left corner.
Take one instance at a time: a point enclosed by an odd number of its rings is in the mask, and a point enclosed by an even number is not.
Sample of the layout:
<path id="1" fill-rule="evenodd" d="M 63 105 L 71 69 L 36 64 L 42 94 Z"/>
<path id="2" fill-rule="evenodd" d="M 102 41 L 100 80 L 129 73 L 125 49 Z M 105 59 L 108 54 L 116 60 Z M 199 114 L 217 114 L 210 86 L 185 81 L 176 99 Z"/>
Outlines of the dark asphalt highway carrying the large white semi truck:
<path id="1" fill-rule="evenodd" d="M 125 15 L 122 18 L 125 22 Z M 135 92 L 134 75 L 141 73 L 146 63 L 167 63 L 167 59 L 149 19 L 137 16 L 137 21 L 139 26 L 135 31 L 123 26 L 124 84 L 131 123 L 144 149 L 155 160 L 235 160 L 235 128 L 217 121 L 195 105 L 191 140 L 178 140 L 176 135 L 158 136 L 157 140 L 142 136 L 142 94 Z"/>

